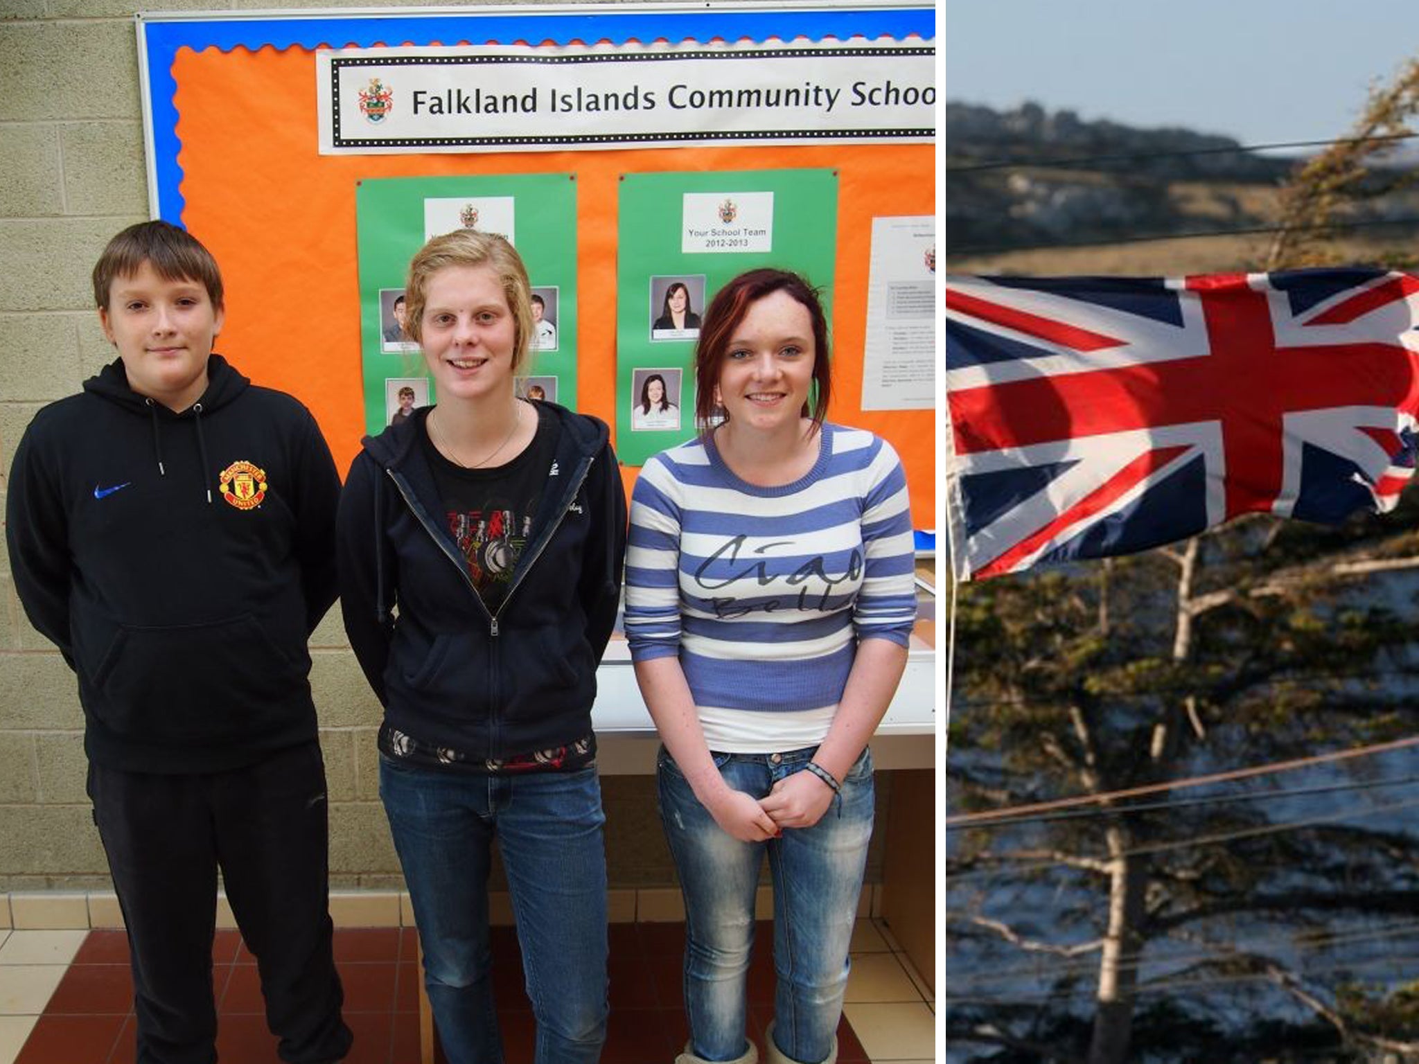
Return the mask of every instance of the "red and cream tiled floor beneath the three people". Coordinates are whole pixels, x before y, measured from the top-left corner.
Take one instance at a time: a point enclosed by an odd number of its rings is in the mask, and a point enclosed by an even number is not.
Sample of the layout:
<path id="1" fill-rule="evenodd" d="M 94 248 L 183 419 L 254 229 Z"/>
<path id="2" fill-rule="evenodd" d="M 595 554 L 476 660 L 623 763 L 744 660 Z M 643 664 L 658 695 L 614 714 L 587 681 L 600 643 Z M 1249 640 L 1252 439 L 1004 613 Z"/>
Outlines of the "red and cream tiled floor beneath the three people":
<path id="1" fill-rule="evenodd" d="M 773 1002 L 772 924 L 758 929 L 749 1023 L 762 1044 Z M 683 924 L 610 928 L 610 1033 L 603 1064 L 670 1064 L 684 1046 Z M 335 956 L 355 1031 L 348 1064 L 417 1064 L 419 970 L 410 929 L 341 929 Z M 495 993 L 509 1064 L 531 1060 L 532 1013 L 512 928 L 494 929 Z M 261 1014 L 255 962 L 234 931 L 213 948 L 226 1064 L 278 1064 Z M 871 921 L 853 938 L 839 1029 L 840 1064 L 929 1061 L 934 1006 L 920 976 Z M 0 931 L 0 1064 L 132 1064 L 133 1017 L 122 931 Z"/>

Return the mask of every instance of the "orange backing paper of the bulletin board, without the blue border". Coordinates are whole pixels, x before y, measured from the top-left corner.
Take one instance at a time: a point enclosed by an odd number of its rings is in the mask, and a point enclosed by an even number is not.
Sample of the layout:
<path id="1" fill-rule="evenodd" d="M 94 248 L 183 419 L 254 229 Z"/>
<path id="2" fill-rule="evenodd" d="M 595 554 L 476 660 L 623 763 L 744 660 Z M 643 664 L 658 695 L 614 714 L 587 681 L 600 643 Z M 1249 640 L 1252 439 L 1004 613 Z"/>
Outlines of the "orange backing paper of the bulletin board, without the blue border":
<path id="1" fill-rule="evenodd" d="M 616 431 L 616 230 L 620 174 L 830 167 L 839 172 L 829 417 L 870 428 L 901 454 L 912 523 L 935 512 L 935 413 L 864 411 L 863 342 L 874 216 L 931 214 L 929 145 L 823 145 L 468 155 L 318 152 L 315 54 L 301 48 L 182 48 L 177 84 L 183 224 L 221 264 L 219 350 L 247 376 L 299 397 L 335 461 L 363 434 L 355 187 L 370 177 L 575 173 L 580 298 L 578 409 Z M 790 234 L 779 234 L 790 240 Z M 597 314 L 596 308 L 606 308 Z M 623 467 L 627 491 L 637 470 Z"/>

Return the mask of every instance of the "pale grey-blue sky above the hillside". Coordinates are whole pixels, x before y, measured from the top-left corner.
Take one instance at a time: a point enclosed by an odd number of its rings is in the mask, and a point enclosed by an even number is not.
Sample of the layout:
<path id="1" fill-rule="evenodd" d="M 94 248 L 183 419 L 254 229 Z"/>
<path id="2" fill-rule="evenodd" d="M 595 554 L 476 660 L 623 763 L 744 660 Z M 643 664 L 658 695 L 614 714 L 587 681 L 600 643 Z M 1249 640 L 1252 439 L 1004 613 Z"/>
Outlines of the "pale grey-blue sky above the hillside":
<path id="1" fill-rule="evenodd" d="M 946 99 L 1246 145 L 1342 136 L 1419 55 L 1419 0 L 945 0 Z"/>

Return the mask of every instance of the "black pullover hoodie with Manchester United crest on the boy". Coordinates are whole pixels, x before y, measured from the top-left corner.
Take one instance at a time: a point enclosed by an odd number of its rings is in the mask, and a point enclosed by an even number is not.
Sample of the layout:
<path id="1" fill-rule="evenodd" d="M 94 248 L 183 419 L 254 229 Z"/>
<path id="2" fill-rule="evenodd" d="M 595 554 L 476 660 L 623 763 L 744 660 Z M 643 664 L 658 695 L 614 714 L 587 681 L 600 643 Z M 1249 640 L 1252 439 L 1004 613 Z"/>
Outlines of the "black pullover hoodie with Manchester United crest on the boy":
<path id="1" fill-rule="evenodd" d="M 89 758 L 126 772 L 240 767 L 316 735 L 335 462 L 295 399 L 220 355 L 207 377 L 173 413 L 114 362 L 34 417 L 10 474 L 20 602 L 78 674 Z"/>

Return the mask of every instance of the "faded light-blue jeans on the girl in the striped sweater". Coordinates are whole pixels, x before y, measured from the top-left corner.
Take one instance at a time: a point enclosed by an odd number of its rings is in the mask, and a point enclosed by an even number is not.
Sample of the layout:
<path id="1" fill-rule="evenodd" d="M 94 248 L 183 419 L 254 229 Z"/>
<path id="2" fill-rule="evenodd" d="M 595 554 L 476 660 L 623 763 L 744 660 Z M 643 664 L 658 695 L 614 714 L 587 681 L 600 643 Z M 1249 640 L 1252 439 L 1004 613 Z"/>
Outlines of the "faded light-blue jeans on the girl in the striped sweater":
<path id="1" fill-rule="evenodd" d="M 735 790 L 763 797 L 817 748 L 783 753 L 715 753 Z M 863 750 L 841 803 L 809 829 L 741 843 L 700 804 L 664 748 L 657 765 L 660 819 L 685 897 L 685 1013 L 691 1051 L 736 1060 L 745 1037 L 745 979 L 753 945 L 753 892 L 765 853 L 773 877 L 773 1041 L 805 1064 L 826 1060 L 843 1014 L 847 949 L 873 834 L 873 760 Z"/>

